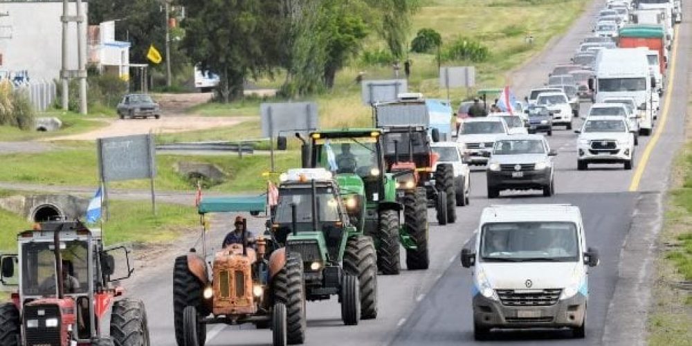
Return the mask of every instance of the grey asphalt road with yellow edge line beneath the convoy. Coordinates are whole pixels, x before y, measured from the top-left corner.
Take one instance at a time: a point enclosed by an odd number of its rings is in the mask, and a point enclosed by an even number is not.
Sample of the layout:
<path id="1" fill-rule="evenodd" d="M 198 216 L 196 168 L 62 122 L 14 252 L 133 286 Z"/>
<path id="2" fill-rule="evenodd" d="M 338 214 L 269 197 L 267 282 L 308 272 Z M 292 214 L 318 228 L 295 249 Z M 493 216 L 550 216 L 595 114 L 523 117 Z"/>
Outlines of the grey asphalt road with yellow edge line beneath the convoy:
<path id="1" fill-rule="evenodd" d="M 602 5 L 595 1 L 585 16 L 564 37 L 558 39 L 544 54 L 516 71 L 513 88 L 518 96 L 525 95 L 531 86 L 543 85 L 552 65 L 567 62 L 576 44 L 590 35 L 590 23 Z M 686 14 L 690 4 L 684 3 Z M 684 18 L 688 16 L 685 15 Z M 397 276 L 379 276 L 379 316 L 376 320 L 361 321 L 360 325 L 345 327 L 340 320 L 336 299 L 328 302 L 310 302 L 307 305 L 308 326 L 305 345 L 458 345 L 473 343 L 471 319 L 471 271 L 459 267 L 458 253 L 477 226 L 480 211 L 491 203 L 572 203 L 582 210 L 587 242 L 599 248 L 601 265 L 590 269 L 590 300 L 588 304 L 587 338 L 572 340 L 563 331 L 500 332 L 495 341 L 503 344 L 593 344 L 636 345 L 644 342 L 647 282 L 650 277 L 650 239 L 655 237 L 661 210 L 659 203 L 644 203 L 646 196 L 664 192 L 673 153 L 682 143 L 686 95 L 688 94 L 686 55 L 691 46 L 689 23 L 679 26 L 676 71 L 673 89 L 668 100 L 666 126 L 650 150 L 648 163 L 637 162 L 634 169 L 624 171 L 621 165 L 592 166 L 587 172 L 576 171 L 576 134 L 572 131 L 554 131 L 549 141 L 558 150 L 556 157 L 556 196 L 543 198 L 539 194 L 506 192 L 500 199 L 486 199 L 485 178 L 481 171 L 472 179 L 471 206 L 457 209 L 459 219 L 448 226 L 431 225 L 431 262 L 428 271 L 402 271 Z M 587 104 L 583 105 L 588 107 Z M 662 100 L 664 107 L 664 100 Z M 665 108 L 665 107 L 664 107 Z M 665 110 L 665 109 L 664 109 Z M 659 117 L 662 122 L 662 117 Z M 652 137 L 653 138 L 653 137 Z M 637 160 L 640 160 L 650 138 L 640 138 Z M 632 185 L 632 177 L 639 166 L 641 181 Z M 631 190 L 631 191 L 630 191 Z M 659 201 L 660 199 L 656 199 Z M 637 215 L 649 215 L 653 226 L 639 228 L 636 235 L 649 239 L 639 244 L 632 237 L 639 220 Z M 434 215 L 430 210 L 429 219 Z M 634 216 L 634 217 L 633 217 Z M 217 217 L 215 228 L 208 234 L 211 244 L 218 246 L 224 230 L 230 226 L 228 216 Z M 251 229 L 262 229 L 262 219 L 251 218 Z M 176 254 L 184 253 L 195 243 L 196 235 L 182 239 L 168 249 L 156 263 L 146 260 L 138 263 L 140 270 L 134 280 L 127 283 L 130 293 L 143 298 L 149 315 L 152 345 L 174 344 L 172 317 L 172 265 Z M 638 252 L 637 252 L 638 251 Z M 632 254 L 641 254 L 638 260 L 621 262 Z M 403 258 L 402 258 L 403 260 Z M 632 290 L 635 293 L 632 293 Z M 629 311 L 629 312 L 628 312 Z M 619 316 L 618 314 L 631 315 Z M 604 340 L 608 340 L 605 342 Z M 493 343 L 492 341 L 490 343 Z M 255 330 L 253 326 L 208 327 L 207 345 L 271 345 L 271 332 Z"/>

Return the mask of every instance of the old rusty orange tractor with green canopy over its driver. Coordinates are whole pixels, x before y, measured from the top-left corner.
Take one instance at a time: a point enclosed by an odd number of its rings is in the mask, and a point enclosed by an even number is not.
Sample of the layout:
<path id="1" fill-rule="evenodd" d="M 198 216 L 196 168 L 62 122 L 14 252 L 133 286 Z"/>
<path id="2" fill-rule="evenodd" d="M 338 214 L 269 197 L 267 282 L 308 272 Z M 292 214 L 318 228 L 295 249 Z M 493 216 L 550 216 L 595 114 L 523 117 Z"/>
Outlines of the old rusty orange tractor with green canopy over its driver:
<path id="1" fill-rule="evenodd" d="M 192 248 L 174 266 L 174 325 L 179 346 L 203 346 L 206 325 L 252 323 L 271 328 L 273 345 L 300 344 L 305 337 L 303 262 L 279 248 L 271 235 L 249 239 L 243 219 L 242 243 L 207 255 L 204 215 L 266 208 L 265 197 L 212 198 L 199 204 L 202 251 Z M 209 267 L 207 263 L 210 263 Z"/>

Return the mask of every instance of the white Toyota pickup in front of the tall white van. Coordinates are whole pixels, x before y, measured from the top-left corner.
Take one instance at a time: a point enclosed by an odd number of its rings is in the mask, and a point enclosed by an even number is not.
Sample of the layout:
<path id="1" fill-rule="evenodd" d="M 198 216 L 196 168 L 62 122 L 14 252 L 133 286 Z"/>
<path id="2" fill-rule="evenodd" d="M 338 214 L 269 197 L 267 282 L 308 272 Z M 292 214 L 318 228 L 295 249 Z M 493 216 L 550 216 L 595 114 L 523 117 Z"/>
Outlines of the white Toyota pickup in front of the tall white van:
<path id="1" fill-rule="evenodd" d="M 622 163 L 625 170 L 632 169 L 635 136 L 624 118 L 592 116 L 575 132 L 578 170 L 587 170 L 590 163 Z"/>

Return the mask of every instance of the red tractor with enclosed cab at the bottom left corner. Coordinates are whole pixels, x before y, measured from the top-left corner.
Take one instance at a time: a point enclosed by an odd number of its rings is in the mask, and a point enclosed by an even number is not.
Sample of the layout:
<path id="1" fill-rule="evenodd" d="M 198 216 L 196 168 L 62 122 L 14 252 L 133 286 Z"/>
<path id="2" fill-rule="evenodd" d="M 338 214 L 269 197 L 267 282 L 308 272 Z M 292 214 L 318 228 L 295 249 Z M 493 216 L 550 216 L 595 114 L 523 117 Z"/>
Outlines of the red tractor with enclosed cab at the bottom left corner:
<path id="1" fill-rule="evenodd" d="M 133 271 L 127 248 L 104 249 L 80 221 L 36 224 L 17 242 L 18 255 L 0 255 L 2 285 L 18 287 L 0 304 L 0 345 L 149 346 L 143 302 L 112 284 Z"/>

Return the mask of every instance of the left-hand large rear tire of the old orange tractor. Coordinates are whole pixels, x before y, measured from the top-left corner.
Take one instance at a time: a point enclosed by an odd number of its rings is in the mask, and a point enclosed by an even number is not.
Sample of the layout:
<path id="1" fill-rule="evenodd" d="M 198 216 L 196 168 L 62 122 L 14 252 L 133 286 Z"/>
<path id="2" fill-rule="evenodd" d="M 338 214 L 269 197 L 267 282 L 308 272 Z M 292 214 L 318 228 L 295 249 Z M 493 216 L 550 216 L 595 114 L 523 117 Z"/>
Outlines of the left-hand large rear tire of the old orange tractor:
<path id="1" fill-rule="evenodd" d="M 173 322 L 178 346 L 185 346 L 185 337 L 183 336 L 183 311 L 185 311 L 185 307 L 194 307 L 202 316 L 206 316 L 210 312 L 205 311 L 206 308 L 203 306 L 202 290 L 202 283 L 196 276 L 192 275 L 188 268 L 188 256 L 177 257 L 173 268 Z M 199 346 L 204 346 L 206 328 L 202 328 L 198 333 Z"/>

